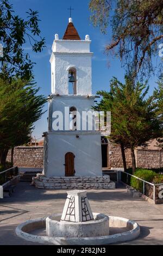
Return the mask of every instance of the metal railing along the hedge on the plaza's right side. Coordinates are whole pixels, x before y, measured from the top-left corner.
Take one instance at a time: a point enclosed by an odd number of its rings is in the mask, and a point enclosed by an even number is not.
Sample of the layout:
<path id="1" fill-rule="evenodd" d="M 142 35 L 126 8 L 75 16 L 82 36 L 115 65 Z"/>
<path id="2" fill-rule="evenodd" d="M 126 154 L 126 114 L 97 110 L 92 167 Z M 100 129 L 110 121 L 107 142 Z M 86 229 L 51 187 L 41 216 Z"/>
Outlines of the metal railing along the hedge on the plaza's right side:
<path id="1" fill-rule="evenodd" d="M 120 173 L 120 175 L 119 175 L 119 173 Z M 127 175 L 127 179 L 126 179 L 126 182 L 124 182 L 123 180 L 122 180 L 122 174 L 126 174 Z M 123 172 L 122 170 L 118 170 L 117 171 L 117 181 L 122 181 L 122 182 L 124 182 L 126 185 L 131 185 L 130 184 L 130 178 L 131 177 L 134 177 L 134 178 L 136 178 L 137 180 L 140 180 L 140 181 L 142 181 L 143 182 L 143 191 L 142 191 L 142 193 L 143 194 L 145 194 L 145 184 L 149 184 L 149 185 L 151 185 L 151 186 L 153 186 L 153 200 L 155 201 L 155 199 L 158 199 L 158 198 L 155 198 L 156 196 L 155 196 L 155 192 L 156 192 L 156 187 L 158 187 L 158 186 L 161 186 L 161 185 L 163 185 L 163 183 L 158 183 L 158 184 L 154 184 L 154 183 L 151 183 L 151 182 L 149 182 L 149 181 L 146 181 L 146 180 L 143 180 L 143 179 L 141 179 L 141 178 L 138 178 L 138 177 L 136 177 L 135 175 L 132 175 L 132 174 L 130 174 L 130 173 L 126 173 L 126 172 Z M 141 192 L 141 191 L 140 191 Z M 145 196 L 146 196 L 146 194 L 145 194 Z"/>

